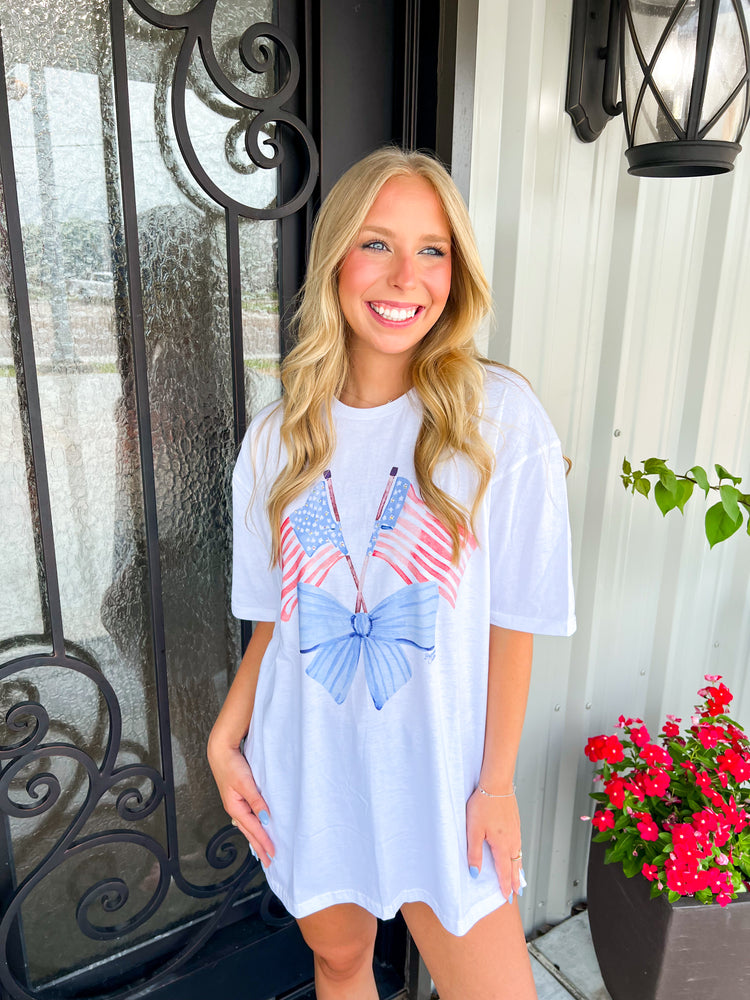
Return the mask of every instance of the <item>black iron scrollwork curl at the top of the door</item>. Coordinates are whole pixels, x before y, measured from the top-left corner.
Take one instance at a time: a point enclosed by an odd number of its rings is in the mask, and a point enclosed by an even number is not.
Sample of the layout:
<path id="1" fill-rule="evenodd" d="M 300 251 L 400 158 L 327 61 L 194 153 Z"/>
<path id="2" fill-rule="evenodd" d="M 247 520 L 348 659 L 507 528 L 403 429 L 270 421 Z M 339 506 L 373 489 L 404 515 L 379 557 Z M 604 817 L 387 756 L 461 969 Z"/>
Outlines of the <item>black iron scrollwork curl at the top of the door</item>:
<path id="1" fill-rule="evenodd" d="M 145 21 L 155 27 L 181 29 L 185 32 L 172 78 L 172 123 L 185 164 L 206 194 L 232 214 L 249 219 L 283 219 L 302 208 L 315 188 L 319 158 L 310 130 L 301 118 L 284 107 L 296 93 L 300 81 L 300 59 L 290 36 L 278 25 L 259 21 L 247 28 L 239 40 L 240 60 L 250 72 L 267 74 L 272 70 L 273 53 L 268 42 L 276 46 L 277 60 L 284 65 L 285 78 L 273 93 L 261 97 L 240 89 L 221 68 L 212 37 L 217 0 L 200 0 L 193 8 L 181 14 L 165 14 L 146 0 L 129 2 Z M 283 142 L 278 135 L 271 135 L 266 131 L 272 124 L 284 126 L 297 135 L 306 158 L 305 177 L 298 190 L 283 203 L 257 208 L 238 201 L 222 191 L 200 163 L 190 137 L 186 109 L 190 65 L 196 51 L 200 53 L 203 66 L 218 91 L 240 110 L 254 112 L 249 122 L 246 121 L 247 116 L 243 116 L 227 130 L 225 156 L 235 171 L 249 173 L 253 167 L 272 170 L 283 164 L 286 157 Z M 217 102 L 212 102 L 212 106 L 215 110 L 219 109 Z M 224 107 L 221 111 L 233 114 Z M 281 129 L 278 131 L 281 132 Z M 243 133 L 249 163 L 242 163 L 237 156 L 237 141 Z M 270 156 L 264 152 L 264 149 L 269 148 L 272 150 Z"/>

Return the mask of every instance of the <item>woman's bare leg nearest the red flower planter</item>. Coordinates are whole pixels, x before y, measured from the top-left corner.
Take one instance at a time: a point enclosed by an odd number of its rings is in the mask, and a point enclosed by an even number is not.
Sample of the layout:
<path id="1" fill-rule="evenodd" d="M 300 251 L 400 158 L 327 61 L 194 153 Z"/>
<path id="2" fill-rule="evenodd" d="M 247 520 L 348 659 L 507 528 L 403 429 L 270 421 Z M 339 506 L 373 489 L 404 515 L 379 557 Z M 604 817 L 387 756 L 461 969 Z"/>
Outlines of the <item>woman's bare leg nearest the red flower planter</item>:
<path id="1" fill-rule="evenodd" d="M 506 903 L 463 937 L 449 934 L 426 903 L 401 907 L 440 1000 L 536 1000 L 518 907 Z"/>

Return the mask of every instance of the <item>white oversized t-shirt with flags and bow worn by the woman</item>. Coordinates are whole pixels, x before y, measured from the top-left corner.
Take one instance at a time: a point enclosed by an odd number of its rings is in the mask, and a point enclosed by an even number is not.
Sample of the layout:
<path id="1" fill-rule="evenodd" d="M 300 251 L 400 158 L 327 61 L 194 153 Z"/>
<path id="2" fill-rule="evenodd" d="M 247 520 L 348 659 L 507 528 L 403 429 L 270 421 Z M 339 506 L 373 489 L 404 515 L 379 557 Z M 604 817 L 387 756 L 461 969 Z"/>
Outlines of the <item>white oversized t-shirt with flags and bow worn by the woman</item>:
<path id="1" fill-rule="evenodd" d="M 526 382 L 490 368 L 482 433 L 496 468 L 451 563 L 419 496 L 412 390 L 371 409 L 335 401 L 330 468 L 285 511 L 269 568 L 268 489 L 280 408 L 251 424 L 234 474 L 232 610 L 274 621 L 245 754 L 268 803 L 268 883 L 290 913 L 358 903 L 392 917 L 423 901 L 464 934 L 504 902 L 487 844 L 466 858 L 479 779 L 490 624 L 575 628 L 560 444 Z M 471 506 L 464 460 L 439 485 Z"/>

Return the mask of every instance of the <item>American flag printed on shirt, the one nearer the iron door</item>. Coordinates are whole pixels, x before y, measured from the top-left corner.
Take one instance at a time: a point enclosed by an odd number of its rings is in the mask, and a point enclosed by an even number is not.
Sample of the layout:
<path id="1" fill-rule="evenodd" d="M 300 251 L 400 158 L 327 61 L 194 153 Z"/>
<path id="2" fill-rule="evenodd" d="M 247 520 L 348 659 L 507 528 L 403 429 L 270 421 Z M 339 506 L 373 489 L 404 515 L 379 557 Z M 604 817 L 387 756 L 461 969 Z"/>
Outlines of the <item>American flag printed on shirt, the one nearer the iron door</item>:
<path id="1" fill-rule="evenodd" d="M 327 480 L 323 480 L 281 524 L 281 620 L 289 621 L 297 605 L 298 583 L 319 587 L 347 556 L 341 526 L 328 504 Z"/>

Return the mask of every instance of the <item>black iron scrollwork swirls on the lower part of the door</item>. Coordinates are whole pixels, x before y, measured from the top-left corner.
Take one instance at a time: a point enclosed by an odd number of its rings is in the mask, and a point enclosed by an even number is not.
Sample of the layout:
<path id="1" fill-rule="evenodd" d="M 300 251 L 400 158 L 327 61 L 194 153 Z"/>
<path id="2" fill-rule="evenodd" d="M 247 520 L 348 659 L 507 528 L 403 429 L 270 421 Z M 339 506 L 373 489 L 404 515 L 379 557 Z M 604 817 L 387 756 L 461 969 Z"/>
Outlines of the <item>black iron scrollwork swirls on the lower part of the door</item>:
<path id="1" fill-rule="evenodd" d="M 150 897 L 136 913 L 126 919 L 116 919 L 116 914 L 125 907 L 130 898 L 129 886 L 119 875 L 100 879 L 81 895 L 76 907 L 78 928 L 88 938 L 97 941 L 121 938 L 145 924 L 159 909 L 173 882 L 179 885 L 183 892 L 193 896 L 211 897 L 222 892 L 226 893 L 221 905 L 205 922 L 201 931 L 159 969 L 158 976 L 153 976 L 151 982 L 166 976 L 198 950 L 259 868 L 259 862 L 246 849 L 245 856 L 240 861 L 238 844 L 244 844 L 244 839 L 236 828 L 229 825 L 212 836 L 205 849 L 205 857 L 208 864 L 217 872 L 230 867 L 234 867 L 234 870 L 224 879 L 219 879 L 211 885 L 200 886 L 189 883 L 180 873 L 176 844 L 168 843 L 165 848 L 154 836 L 129 828 L 82 835 L 87 821 L 105 796 L 114 794 L 120 785 L 125 787 L 116 795 L 115 810 L 117 817 L 128 824 L 146 819 L 164 803 L 168 795 L 174 793 L 167 788 L 162 775 L 153 767 L 146 764 L 117 766 L 122 731 L 120 706 L 113 688 L 94 664 L 68 655 L 19 657 L 5 664 L 0 670 L 0 683 L 19 674 L 23 675 L 25 671 L 45 666 L 64 667 L 92 681 L 106 705 L 109 728 L 103 759 L 97 763 L 90 754 L 72 743 L 46 739 L 51 720 L 40 702 L 20 701 L 5 714 L 7 729 L 11 733 L 19 734 L 20 739 L 0 747 L 0 761 L 3 762 L 0 767 L 0 812 L 17 820 L 28 820 L 54 809 L 60 800 L 62 789 L 59 778 L 51 769 L 36 771 L 26 780 L 24 793 L 27 801 L 19 799 L 18 791 L 15 793 L 11 791 L 11 787 L 18 782 L 24 771 L 35 765 L 41 765 L 42 761 L 57 759 L 75 762 L 83 768 L 87 782 L 82 801 L 75 809 L 67 828 L 41 862 L 19 884 L 0 920 L 0 950 L 3 954 L 3 959 L 0 960 L 0 983 L 14 1000 L 36 1000 L 38 993 L 26 987 L 14 975 L 11 963 L 6 960 L 5 953 L 11 929 L 19 920 L 26 900 L 43 884 L 51 872 L 66 862 L 97 848 L 128 844 L 146 851 L 156 866 L 158 876 Z M 145 795 L 142 790 L 144 782 L 149 786 Z M 239 866 L 237 866 L 238 861 L 240 861 Z M 273 913 L 273 901 L 267 898 L 270 896 L 270 891 L 267 891 L 266 898 L 259 903 L 261 916 L 271 925 L 288 922 L 291 919 L 288 915 L 279 916 Z M 97 909 L 99 914 L 95 917 L 93 914 Z M 129 992 L 130 990 L 126 990 L 110 995 L 124 998 Z"/>

